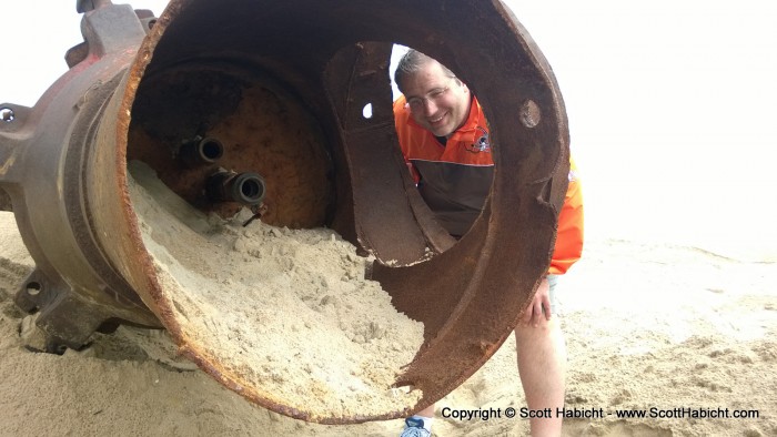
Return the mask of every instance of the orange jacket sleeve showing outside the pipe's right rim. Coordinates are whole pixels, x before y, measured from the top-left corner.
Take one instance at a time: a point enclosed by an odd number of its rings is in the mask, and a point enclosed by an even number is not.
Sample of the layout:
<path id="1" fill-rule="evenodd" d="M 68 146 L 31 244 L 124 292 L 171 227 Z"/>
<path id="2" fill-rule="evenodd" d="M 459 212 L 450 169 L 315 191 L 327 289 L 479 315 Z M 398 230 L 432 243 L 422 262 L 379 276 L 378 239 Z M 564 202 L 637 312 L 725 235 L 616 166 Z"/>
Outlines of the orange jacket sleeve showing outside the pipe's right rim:
<path id="1" fill-rule="evenodd" d="M 548 274 L 563 275 L 583 254 L 583 192 L 577 179 L 577 167 L 569 160 L 569 185 L 564 205 L 558 214 L 556 245 L 553 250 Z"/>

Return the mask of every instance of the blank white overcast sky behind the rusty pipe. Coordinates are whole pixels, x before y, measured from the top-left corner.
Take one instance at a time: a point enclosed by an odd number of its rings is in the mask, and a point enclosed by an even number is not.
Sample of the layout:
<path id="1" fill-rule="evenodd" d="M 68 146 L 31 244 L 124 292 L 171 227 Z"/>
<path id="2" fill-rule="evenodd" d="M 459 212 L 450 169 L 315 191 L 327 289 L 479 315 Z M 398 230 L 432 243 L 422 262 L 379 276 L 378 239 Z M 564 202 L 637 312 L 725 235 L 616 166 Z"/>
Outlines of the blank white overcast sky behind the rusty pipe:
<path id="1" fill-rule="evenodd" d="M 506 3 L 558 79 L 592 232 L 777 253 L 777 3 Z M 0 102 L 31 106 L 65 71 L 74 4 L 2 2 Z"/>

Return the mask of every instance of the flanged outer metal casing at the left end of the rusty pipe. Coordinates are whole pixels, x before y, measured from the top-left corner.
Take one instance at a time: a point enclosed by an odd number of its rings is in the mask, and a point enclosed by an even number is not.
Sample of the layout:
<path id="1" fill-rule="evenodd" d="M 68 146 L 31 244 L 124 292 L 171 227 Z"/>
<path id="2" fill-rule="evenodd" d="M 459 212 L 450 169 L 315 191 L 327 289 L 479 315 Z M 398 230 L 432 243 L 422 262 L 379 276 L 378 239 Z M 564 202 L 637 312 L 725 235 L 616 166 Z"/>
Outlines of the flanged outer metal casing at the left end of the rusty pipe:
<path id="1" fill-rule="evenodd" d="M 0 104 L 16 114 L 0 125 L 0 185 L 36 261 L 16 302 L 24 311 L 40 311 L 37 323 L 49 334 L 52 350 L 81 347 L 95 329 L 110 331 L 118 319 L 161 326 L 104 256 L 100 234 L 109 228 L 95 227 L 101 205 L 88 193 L 90 165 L 104 165 L 93 162 L 98 121 L 145 32 L 129 6 L 89 12 L 82 31 L 88 55 L 34 108 Z"/>

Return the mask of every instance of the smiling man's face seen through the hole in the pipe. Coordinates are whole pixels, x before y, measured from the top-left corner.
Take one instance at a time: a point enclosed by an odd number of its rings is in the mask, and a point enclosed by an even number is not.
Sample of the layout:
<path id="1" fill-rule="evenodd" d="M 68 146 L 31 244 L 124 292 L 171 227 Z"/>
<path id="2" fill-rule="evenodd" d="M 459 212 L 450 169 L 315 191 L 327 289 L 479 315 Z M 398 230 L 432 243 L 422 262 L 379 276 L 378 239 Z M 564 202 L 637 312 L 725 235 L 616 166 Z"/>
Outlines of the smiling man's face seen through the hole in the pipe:
<path id="1" fill-rule="evenodd" d="M 445 75 L 438 62 L 426 62 L 403 85 L 413 120 L 434 135 L 450 136 L 464 124 L 470 113 L 470 90 Z"/>

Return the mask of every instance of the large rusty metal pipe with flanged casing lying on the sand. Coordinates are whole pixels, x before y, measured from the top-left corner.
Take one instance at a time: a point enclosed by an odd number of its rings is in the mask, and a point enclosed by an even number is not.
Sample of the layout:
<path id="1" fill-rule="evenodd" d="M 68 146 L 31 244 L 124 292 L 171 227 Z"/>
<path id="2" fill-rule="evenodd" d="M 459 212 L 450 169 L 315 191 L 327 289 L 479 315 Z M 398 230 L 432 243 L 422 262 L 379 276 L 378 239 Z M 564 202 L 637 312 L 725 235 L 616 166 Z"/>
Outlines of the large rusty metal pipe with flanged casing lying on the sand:
<path id="1" fill-rule="evenodd" d="M 14 114 L 0 122 L 0 189 L 37 262 L 17 302 L 40 308 L 52 348 L 78 347 L 118 322 L 161 324 L 225 386 L 325 424 L 420 410 L 495 353 L 549 264 L 568 170 L 555 79 L 503 4 L 172 0 L 155 20 L 105 1 L 83 4 L 94 9 L 84 14 L 85 45 L 68 57 L 71 70 L 33 109 L 0 105 Z M 494 182 L 458 242 L 434 222 L 398 152 L 389 41 L 445 63 L 486 110 Z M 180 148 L 198 138 L 215 139 L 223 156 L 182 165 Z M 255 171 L 268 182 L 263 220 L 329 225 L 374 254 L 373 278 L 424 323 L 424 345 L 397 377 L 421 389 L 421 400 L 369 417 L 290 407 L 184 338 L 129 197 L 133 159 L 223 215 L 234 205 L 209 203 L 203 176 L 214 165 Z"/>

